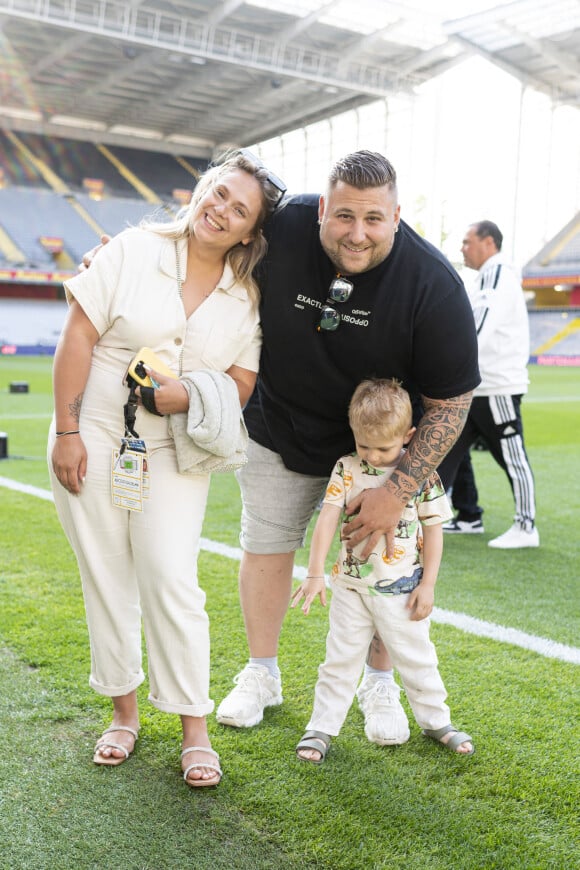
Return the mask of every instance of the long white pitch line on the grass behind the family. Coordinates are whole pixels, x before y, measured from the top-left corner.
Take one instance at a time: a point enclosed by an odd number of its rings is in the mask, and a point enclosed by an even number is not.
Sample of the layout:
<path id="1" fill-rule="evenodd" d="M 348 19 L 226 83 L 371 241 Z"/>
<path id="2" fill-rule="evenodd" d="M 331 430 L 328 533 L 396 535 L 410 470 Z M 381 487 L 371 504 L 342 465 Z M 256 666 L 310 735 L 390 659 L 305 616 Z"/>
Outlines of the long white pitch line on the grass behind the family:
<path id="1" fill-rule="evenodd" d="M 52 493 L 46 489 L 39 489 L 36 486 L 19 483 L 7 477 L 0 477 L 0 486 L 13 489 L 16 492 L 23 492 L 26 495 L 33 495 L 45 501 L 54 500 Z M 242 558 L 242 551 L 239 547 L 230 547 L 219 541 L 210 541 L 209 538 L 201 538 L 199 543 L 201 549 L 206 550 L 208 553 L 215 553 L 217 556 L 224 556 L 226 559 L 232 559 L 235 562 L 239 562 Z M 294 577 L 296 580 L 304 580 L 306 568 L 295 566 Z M 477 637 L 488 637 L 500 643 L 519 646 L 521 649 L 530 650 L 545 658 L 558 659 L 559 661 L 570 662 L 575 665 L 580 664 L 580 649 L 578 647 L 566 646 L 566 644 L 557 643 L 547 637 L 526 634 L 526 632 L 519 631 L 517 628 L 497 625 L 495 622 L 486 622 L 483 619 L 468 616 L 466 613 L 455 613 L 452 610 L 442 610 L 440 607 L 433 608 L 431 619 L 433 622 L 440 622 L 442 625 L 452 625 L 454 628 L 458 628 L 467 634 L 474 634 Z"/>

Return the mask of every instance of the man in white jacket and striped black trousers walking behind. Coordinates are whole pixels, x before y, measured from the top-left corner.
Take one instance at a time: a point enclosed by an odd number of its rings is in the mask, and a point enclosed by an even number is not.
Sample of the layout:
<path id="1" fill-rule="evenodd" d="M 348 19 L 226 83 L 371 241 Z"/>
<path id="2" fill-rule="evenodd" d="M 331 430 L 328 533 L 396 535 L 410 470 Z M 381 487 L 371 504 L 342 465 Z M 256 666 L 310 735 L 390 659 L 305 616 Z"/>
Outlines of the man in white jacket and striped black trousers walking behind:
<path id="1" fill-rule="evenodd" d="M 511 550 L 538 547 L 540 536 L 535 525 L 534 476 L 524 446 L 520 410 L 529 384 L 528 312 L 520 275 L 501 253 L 502 241 L 492 221 L 472 224 L 463 239 L 465 265 L 478 270 L 469 297 L 477 330 L 481 384 L 475 390 L 465 428 L 440 465 L 439 474 L 447 488 L 453 485 L 466 449 L 477 436 L 485 439 L 507 475 L 515 502 L 513 525 L 488 545 Z M 481 526 L 475 485 L 469 492 L 470 498 L 462 500 L 447 531 L 465 533 L 472 530 L 473 523 Z"/>

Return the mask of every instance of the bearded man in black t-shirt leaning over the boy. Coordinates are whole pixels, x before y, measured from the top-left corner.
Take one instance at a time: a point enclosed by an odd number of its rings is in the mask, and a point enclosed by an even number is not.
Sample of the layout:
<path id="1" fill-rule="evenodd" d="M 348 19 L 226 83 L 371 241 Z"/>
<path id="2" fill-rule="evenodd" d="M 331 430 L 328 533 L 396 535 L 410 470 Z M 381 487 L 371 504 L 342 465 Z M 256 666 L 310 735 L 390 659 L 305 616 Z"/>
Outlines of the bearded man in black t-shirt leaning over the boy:
<path id="1" fill-rule="evenodd" d="M 354 449 L 347 409 L 361 380 L 399 379 L 423 416 L 384 487 L 353 502 L 343 534 L 365 554 L 382 533 L 385 557 L 402 510 L 464 425 L 479 383 L 473 316 L 447 260 L 400 220 L 396 173 L 359 151 L 332 168 L 320 198 L 291 197 L 266 230 L 261 267 L 264 335 L 258 385 L 245 410 L 251 436 L 242 490 L 240 600 L 249 664 L 217 720 L 249 727 L 282 702 L 277 649 L 294 552 L 337 457 Z M 358 698 L 369 739 L 408 737 L 398 686 L 376 646 Z M 388 722 L 398 733 L 385 733 Z M 381 717 L 383 721 L 381 721 Z M 451 735 L 450 735 L 451 736 Z"/>

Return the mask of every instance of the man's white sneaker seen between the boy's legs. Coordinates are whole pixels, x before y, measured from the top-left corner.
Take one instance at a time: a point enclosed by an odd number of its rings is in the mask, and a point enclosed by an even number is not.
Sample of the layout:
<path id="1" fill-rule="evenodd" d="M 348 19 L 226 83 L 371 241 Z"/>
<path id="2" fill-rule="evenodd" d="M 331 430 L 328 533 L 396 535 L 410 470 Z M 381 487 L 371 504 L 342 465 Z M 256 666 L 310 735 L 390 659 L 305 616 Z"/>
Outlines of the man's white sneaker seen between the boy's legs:
<path id="1" fill-rule="evenodd" d="M 365 717 L 365 734 L 379 746 L 398 746 L 409 739 L 409 722 L 401 706 L 401 689 L 391 680 L 375 674 L 366 677 L 357 689 L 359 707 Z"/>

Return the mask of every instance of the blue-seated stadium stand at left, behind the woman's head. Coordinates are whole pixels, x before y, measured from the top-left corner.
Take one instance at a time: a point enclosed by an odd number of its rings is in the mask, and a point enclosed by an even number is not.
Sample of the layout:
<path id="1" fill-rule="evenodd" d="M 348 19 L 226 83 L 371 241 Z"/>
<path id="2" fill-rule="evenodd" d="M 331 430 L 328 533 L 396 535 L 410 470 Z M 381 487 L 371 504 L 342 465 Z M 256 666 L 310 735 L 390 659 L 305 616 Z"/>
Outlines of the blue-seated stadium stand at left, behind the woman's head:
<path id="1" fill-rule="evenodd" d="M 204 168 L 169 154 L 0 131 L 0 296 L 14 296 L 18 281 L 62 281 L 103 232 L 175 214 Z"/>

